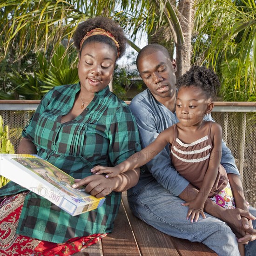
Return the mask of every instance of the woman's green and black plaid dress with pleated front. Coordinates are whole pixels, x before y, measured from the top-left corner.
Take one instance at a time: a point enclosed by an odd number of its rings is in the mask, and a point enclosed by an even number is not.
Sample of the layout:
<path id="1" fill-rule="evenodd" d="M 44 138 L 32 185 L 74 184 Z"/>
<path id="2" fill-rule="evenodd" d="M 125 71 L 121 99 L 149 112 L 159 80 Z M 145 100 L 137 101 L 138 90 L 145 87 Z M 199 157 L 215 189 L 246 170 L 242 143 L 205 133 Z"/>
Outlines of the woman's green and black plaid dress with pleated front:
<path id="1" fill-rule="evenodd" d="M 115 166 L 141 148 L 134 117 L 108 87 L 96 93 L 75 120 L 61 123 L 61 116 L 71 110 L 79 91 L 79 83 L 53 88 L 40 102 L 22 136 L 34 142 L 40 157 L 81 179 L 92 175 L 90 169 L 94 165 Z M 23 190 L 9 182 L 0 189 L 0 195 Z M 43 197 L 29 192 L 16 233 L 54 243 L 108 233 L 113 229 L 120 201 L 121 193 L 113 191 L 99 209 L 70 216 Z"/>

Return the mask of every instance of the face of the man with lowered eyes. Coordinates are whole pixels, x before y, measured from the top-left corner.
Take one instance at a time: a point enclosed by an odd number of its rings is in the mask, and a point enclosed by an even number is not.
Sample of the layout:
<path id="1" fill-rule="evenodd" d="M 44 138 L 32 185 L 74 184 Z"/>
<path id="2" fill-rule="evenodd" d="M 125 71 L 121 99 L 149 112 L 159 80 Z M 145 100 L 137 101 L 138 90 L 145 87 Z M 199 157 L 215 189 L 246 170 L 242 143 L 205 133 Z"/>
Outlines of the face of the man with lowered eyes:
<path id="1" fill-rule="evenodd" d="M 172 97 L 175 93 L 176 62 L 170 61 L 161 51 L 142 56 L 137 63 L 143 82 L 155 99 Z"/>

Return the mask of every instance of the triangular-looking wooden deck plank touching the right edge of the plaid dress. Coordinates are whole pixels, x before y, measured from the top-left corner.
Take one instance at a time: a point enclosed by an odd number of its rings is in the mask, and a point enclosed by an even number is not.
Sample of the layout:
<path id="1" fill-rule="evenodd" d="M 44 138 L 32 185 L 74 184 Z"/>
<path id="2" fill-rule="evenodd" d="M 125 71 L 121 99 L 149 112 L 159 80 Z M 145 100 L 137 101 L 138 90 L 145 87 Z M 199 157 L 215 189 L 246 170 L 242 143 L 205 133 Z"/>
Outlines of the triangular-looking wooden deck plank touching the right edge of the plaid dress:
<path id="1" fill-rule="evenodd" d="M 113 233 L 101 241 L 104 256 L 141 255 L 122 204 L 114 222 Z"/>

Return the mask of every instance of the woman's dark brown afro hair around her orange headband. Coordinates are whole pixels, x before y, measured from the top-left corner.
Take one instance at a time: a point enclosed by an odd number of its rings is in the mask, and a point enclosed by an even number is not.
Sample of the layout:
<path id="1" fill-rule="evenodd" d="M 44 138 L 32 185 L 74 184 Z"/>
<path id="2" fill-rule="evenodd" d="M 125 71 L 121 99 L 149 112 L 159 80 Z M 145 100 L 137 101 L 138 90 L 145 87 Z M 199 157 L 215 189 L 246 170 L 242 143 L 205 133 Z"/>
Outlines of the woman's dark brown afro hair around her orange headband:
<path id="1" fill-rule="evenodd" d="M 83 39 L 83 37 L 86 35 L 88 31 L 91 31 L 94 28 L 102 28 L 105 29 L 106 31 L 110 32 L 114 37 L 115 40 L 119 43 L 119 51 L 120 51 L 120 57 L 124 54 L 125 52 L 125 47 L 126 47 L 126 36 L 123 33 L 123 29 L 119 26 L 118 23 L 116 23 L 114 20 L 111 20 L 107 17 L 103 16 L 97 16 L 95 18 L 90 18 L 82 23 L 80 23 L 77 26 L 76 31 L 74 32 L 74 46 L 78 51 L 80 51 L 80 42 Z M 83 47 L 88 43 L 88 42 L 103 42 L 107 43 L 110 45 L 110 47 L 113 47 L 116 52 L 117 48 L 115 46 L 115 43 L 112 39 L 108 38 L 107 36 L 104 35 L 94 35 L 86 39 L 83 43 Z"/>

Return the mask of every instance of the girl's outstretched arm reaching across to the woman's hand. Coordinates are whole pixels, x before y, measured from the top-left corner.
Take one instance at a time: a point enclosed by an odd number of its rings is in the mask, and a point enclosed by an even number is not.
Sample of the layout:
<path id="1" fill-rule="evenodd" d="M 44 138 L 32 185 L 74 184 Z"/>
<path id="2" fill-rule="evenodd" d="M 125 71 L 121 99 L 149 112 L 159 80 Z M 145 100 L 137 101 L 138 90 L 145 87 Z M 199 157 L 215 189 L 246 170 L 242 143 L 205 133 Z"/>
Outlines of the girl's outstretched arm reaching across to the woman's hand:
<path id="1" fill-rule="evenodd" d="M 120 173 L 141 167 L 160 153 L 168 143 L 172 143 L 173 135 L 174 128 L 169 127 L 160 133 L 155 141 L 149 144 L 146 148 L 143 148 L 140 152 L 131 155 L 127 160 L 121 162 L 115 167 L 96 166 L 91 169 L 91 172 L 94 174 L 107 173 L 108 175 L 106 175 L 106 178 L 112 178 Z"/>

